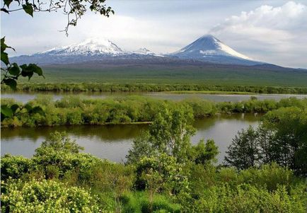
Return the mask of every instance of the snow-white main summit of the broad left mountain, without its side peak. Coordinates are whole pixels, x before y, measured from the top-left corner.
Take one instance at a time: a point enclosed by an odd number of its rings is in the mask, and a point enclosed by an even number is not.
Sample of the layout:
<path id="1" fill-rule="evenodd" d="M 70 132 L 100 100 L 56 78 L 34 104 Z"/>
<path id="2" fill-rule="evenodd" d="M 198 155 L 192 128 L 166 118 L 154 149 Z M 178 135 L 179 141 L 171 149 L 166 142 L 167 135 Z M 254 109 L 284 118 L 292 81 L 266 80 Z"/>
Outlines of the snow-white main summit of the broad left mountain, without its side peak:
<path id="1" fill-rule="evenodd" d="M 45 52 L 36 54 L 52 54 L 52 55 L 98 55 L 98 54 L 122 54 L 124 51 L 117 47 L 115 43 L 107 39 L 90 38 L 75 45 L 65 47 L 56 47 Z"/>

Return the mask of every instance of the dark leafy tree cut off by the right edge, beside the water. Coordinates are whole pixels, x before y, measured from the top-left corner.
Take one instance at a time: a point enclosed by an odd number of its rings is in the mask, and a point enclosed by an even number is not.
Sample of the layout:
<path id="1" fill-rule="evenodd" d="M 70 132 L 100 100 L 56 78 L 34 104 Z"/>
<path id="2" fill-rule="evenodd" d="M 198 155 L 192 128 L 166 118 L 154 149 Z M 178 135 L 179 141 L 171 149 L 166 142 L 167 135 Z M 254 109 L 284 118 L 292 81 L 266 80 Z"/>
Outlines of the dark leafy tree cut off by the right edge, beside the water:
<path id="1" fill-rule="evenodd" d="M 265 115 L 263 127 L 274 132 L 270 142 L 272 161 L 307 176 L 307 110 L 289 107 Z"/>

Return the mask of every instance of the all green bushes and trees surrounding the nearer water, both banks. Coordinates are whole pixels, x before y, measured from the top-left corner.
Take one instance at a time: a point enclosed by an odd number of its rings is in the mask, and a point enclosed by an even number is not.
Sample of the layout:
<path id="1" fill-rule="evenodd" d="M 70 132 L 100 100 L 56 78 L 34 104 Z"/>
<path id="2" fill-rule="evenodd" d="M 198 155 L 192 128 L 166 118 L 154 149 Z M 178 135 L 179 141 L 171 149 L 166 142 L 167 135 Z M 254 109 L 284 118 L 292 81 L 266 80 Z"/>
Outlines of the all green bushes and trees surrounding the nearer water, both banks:
<path id="1" fill-rule="evenodd" d="M 2 212 L 306 212 L 307 99 L 38 96 L 23 106 L 40 106 L 42 112 L 16 112 L 2 126 L 150 126 L 124 163 L 81 153 L 64 132 L 51 134 L 30 159 L 3 156 Z M 221 165 L 214 140 L 190 142 L 193 120 L 216 113 L 265 113 L 259 127 L 238 132 Z"/>

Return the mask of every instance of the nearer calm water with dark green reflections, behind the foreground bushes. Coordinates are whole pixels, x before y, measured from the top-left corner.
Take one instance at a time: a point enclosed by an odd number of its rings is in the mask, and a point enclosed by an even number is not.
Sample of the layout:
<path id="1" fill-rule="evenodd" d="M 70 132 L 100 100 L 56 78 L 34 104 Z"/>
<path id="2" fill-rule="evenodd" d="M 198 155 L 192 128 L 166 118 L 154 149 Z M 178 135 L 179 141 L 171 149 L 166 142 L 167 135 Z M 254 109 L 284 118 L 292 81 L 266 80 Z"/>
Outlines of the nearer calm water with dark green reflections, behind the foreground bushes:
<path id="1" fill-rule="evenodd" d="M 196 144 L 202 138 L 214 139 L 221 151 L 221 163 L 227 146 L 236 133 L 249 125 L 257 126 L 259 122 L 260 116 L 251 114 L 219 115 L 197 120 L 194 124 L 197 132 L 192 137 L 192 143 Z M 51 132 L 66 131 L 85 148 L 84 152 L 102 159 L 122 162 L 133 139 L 147 128 L 148 125 L 78 125 L 1 129 L 1 155 L 10 153 L 30 157 Z"/>

